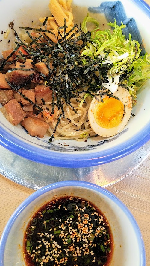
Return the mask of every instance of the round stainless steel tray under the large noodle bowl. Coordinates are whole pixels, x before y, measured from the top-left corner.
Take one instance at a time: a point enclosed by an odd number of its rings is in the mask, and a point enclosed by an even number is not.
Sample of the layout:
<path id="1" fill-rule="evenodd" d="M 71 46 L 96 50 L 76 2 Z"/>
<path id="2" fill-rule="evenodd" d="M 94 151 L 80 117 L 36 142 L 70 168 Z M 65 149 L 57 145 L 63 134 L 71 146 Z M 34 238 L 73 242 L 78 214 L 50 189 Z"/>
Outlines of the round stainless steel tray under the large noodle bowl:
<path id="1" fill-rule="evenodd" d="M 64 180 L 88 181 L 107 187 L 133 172 L 150 154 L 150 141 L 132 154 L 111 163 L 86 168 L 59 168 L 35 163 L 0 146 L 0 173 L 31 189 Z"/>

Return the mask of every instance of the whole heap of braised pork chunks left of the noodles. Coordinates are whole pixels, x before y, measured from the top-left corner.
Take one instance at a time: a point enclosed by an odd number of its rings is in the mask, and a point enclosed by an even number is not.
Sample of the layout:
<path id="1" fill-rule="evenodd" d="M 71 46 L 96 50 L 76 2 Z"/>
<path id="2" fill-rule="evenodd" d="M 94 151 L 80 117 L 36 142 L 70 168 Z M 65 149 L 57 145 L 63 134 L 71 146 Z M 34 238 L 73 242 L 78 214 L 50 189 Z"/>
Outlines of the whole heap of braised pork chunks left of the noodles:
<path id="1" fill-rule="evenodd" d="M 21 46 L 12 53 L 12 49 L 2 52 L 6 62 L 0 72 L 1 112 L 14 126 L 21 122 L 31 136 L 42 138 L 49 125 L 38 105 L 52 100 L 52 90 L 43 84 L 42 77 L 42 74 L 47 76 L 49 70 L 43 62 L 34 64 Z"/>

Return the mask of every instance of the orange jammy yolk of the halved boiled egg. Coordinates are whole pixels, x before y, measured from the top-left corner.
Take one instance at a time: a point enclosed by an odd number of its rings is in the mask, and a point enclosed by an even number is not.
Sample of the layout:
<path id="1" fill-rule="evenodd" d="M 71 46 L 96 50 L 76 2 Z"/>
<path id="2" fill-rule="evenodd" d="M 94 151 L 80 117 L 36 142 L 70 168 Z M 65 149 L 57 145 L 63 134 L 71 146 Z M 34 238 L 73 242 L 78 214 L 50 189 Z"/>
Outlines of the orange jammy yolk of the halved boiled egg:
<path id="1" fill-rule="evenodd" d="M 96 123 L 103 128 L 118 126 L 124 115 L 124 104 L 113 98 L 106 97 L 99 102 L 94 110 Z"/>

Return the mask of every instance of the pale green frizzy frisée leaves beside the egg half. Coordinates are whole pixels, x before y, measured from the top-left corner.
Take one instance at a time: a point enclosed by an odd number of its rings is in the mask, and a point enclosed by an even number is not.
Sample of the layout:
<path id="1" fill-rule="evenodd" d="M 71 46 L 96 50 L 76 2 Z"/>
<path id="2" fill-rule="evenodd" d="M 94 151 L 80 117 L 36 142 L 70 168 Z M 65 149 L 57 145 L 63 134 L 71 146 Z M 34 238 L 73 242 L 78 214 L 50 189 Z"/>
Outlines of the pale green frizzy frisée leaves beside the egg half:
<path id="1" fill-rule="evenodd" d="M 83 30 L 86 30 L 88 18 L 84 19 Z M 89 20 L 92 21 L 92 18 Z M 141 56 L 141 45 L 131 39 L 131 34 L 128 39 L 125 38 L 122 29 L 126 26 L 123 23 L 118 26 L 114 20 L 107 25 L 113 28 L 112 33 L 111 30 L 97 28 L 91 32 L 91 42 L 82 51 L 83 63 L 86 64 L 87 57 L 94 60 L 101 58 L 101 65 L 110 65 L 106 77 L 102 77 L 103 87 L 113 93 L 121 85 L 129 90 L 134 102 L 138 90 L 150 78 L 150 54 Z"/>

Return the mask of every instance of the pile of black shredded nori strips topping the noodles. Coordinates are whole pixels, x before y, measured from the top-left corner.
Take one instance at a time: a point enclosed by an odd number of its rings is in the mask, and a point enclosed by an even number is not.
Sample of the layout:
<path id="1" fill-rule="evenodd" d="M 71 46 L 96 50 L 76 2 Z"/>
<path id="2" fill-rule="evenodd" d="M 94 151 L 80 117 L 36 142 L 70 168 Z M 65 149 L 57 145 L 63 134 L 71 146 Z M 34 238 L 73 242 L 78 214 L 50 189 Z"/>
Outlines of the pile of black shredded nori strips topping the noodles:
<path id="1" fill-rule="evenodd" d="M 19 51 L 20 56 L 16 56 L 15 60 L 13 61 L 14 63 L 18 58 L 24 60 L 26 60 L 26 58 L 30 58 L 33 60 L 33 64 L 44 62 L 49 71 L 48 76 L 45 76 L 40 72 L 38 73 L 40 74 L 40 76 L 42 76 L 43 82 L 46 81 L 46 85 L 49 86 L 52 90 L 52 114 L 54 114 L 54 106 L 57 106 L 58 110 L 61 109 L 63 117 L 65 117 L 65 114 L 63 110 L 63 104 L 61 103 L 61 98 L 64 98 L 66 104 L 69 105 L 75 113 L 77 113 L 77 111 L 71 105 L 70 99 L 76 98 L 76 101 L 80 102 L 80 99 L 84 99 L 84 97 L 80 96 L 82 92 L 90 94 L 91 97 L 95 97 L 97 100 L 99 100 L 99 95 L 101 101 L 103 101 L 103 95 L 107 95 L 108 97 L 113 97 L 119 100 L 119 98 L 110 94 L 109 91 L 101 91 L 103 89 L 101 76 L 104 78 L 103 82 L 105 83 L 108 77 L 107 72 L 112 67 L 112 65 L 101 64 L 103 61 L 105 61 L 105 59 L 102 59 L 102 56 L 100 56 L 100 58 L 97 57 L 95 59 L 92 59 L 90 56 L 81 55 L 82 50 L 84 50 L 85 46 L 90 42 L 90 31 L 84 33 L 81 30 L 81 25 L 80 27 L 78 27 L 75 24 L 72 29 L 66 33 L 67 26 L 66 19 L 64 19 L 64 26 L 59 27 L 59 29 L 64 29 L 64 36 L 62 36 L 58 29 L 58 42 L 54 43 L 46 35 L 46 33 L 50 33 L 55 36 L 52 31 L 46 29 L 47 22 L 48 17 L 46 17 L 43 22 L 45 29 L 20 27 L 21 29 L 26 30 L 26 33 L 31 39 L 31 42 L 28 45 L 22 42 L 16 30 L 13 29 L 16 36 L 15 43 L 17 44 L 17 47 L 7 57 L 7 59 L 2 62 L 2 64 L 0 65 L 0 70 L 3 70 L 5 64 L 10 64 L 10 62 L 7 62 L 7 60 L 15 53 L 15 51 L 17 51 L 20 46 L 28 53 L 28 55 L 23 55 L 22 52 Z M 31 36 L 28 30 L 38 32 L 38 36 Z M 137 46 L 135 45 L 135 58 L 136 53 Z M 50 68 L 50 63 L 52 63 L 52 69 Z M 130 66 L 129 63 L 128 65 Z M 14 70 L 34 70 L 34 68 L 23 68 L 23 65 L 20 65 L 20 67 L 22 68 L 13 68 L 8 72 L 12 72 Z M 98 77 L 96 76 L 96 72 L 99 73 Z M 128 80 L 128 77 L 132 73 L 133 69 L 131 69 L 129 72 L 128 70 L 126 70 L 125 73 L 122 73 L 122 76 L 119 79 L 119 84 L 122 84 L 124 80 Z M 113 75 L 118 74 L 110 74 L 110 76 Z M 18 91 L 18 89 L 22 88 L 22 86 L 18 87 L 12 85 L 8 80 L 6 81 L 12 87 L 12 89 L 17 91 L 24 99 L 28 100 L 28 102 L 33 104 L 34 107 L 38 108 L 39 111 L 43 111 L 42 108 L 34 104 L 30 99 L 28 99 Z M 76 93 L 77 91 L 78 94 Z M 99 94 L 97 94 L 98 91 Z M 57 103 L 54 102 L 55 97 L 57 99 Z M 45 101 L 43 99 L 41 100 L 43 104 L 45 104 Z"/>

